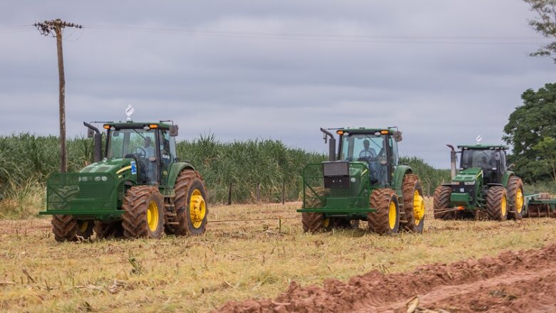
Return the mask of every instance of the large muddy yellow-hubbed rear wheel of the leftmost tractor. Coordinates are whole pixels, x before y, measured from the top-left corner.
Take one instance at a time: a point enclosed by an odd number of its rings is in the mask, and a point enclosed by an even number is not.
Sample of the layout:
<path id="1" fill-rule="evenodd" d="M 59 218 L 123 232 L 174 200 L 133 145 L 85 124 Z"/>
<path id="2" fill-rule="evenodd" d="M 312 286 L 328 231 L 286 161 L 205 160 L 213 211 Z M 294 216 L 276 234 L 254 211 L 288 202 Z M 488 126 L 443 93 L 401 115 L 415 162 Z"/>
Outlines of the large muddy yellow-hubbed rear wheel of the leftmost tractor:
<path id="1" fill-rule="evenodd" d="M 177 226 L 166 226 L 175 235 L 202 235 L 208 221 L 207 191 L 198 171 L 184 169 L 175 181 Z"/>

